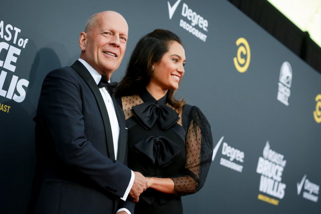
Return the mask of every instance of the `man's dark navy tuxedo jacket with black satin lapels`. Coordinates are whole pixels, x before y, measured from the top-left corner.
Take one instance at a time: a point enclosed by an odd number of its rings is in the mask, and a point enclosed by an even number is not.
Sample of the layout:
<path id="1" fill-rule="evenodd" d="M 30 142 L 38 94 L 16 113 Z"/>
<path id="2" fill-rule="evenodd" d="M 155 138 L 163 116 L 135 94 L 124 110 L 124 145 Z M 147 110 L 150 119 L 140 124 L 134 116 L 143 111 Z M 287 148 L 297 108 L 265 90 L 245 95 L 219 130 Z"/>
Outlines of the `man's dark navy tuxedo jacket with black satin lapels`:
<path id="1" fill-rule="evenodd" d="M 76 61 L 50 72 L 42 86 L 36 122 L 36 171 L 29 213 L 114 214 L 131 178 L 125 166 L 127 129 L 120 126 L 115 161 L 108 112 L 88 70 Z M 112 121 L 111 121 L 112 122 Z"/>

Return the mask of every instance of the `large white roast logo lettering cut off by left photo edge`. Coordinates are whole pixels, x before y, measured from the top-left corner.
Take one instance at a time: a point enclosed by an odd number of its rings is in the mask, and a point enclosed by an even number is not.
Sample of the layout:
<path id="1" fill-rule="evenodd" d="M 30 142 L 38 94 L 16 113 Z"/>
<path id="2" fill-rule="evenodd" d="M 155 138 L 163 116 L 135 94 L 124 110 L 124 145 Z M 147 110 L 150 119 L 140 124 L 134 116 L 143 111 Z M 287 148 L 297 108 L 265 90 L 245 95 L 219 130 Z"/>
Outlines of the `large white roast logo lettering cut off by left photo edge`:
<path id="1" fill-rule="evenodd" d="M 21 37 L 21 29 L 0 21 L 0 97 L 17 103 L 25 99 L 29 85 L 28 80 L 15 75 L 18 57 L 27 43 L 28 39 Z M 9 107 L 2 106 L 2 109 L 9 111 Z"/>

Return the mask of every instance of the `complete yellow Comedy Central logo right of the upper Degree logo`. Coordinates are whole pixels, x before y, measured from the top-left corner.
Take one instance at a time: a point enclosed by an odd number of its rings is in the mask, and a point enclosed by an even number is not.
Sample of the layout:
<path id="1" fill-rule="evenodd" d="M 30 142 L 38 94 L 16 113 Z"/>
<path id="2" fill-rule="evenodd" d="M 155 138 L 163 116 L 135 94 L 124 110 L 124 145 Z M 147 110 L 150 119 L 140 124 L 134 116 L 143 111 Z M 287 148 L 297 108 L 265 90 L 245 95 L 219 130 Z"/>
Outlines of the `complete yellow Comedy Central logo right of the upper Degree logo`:
<path id="1" fill-rule="evenodd" d="M 247 71 L 249 63 L 251 61 L 251 50 L 249 48 L 248 42 L 244 38 L 239 38 L 236 41 L 238 48 L 237 57 L 234 57 L 235 68 L 240 73 Z"/>

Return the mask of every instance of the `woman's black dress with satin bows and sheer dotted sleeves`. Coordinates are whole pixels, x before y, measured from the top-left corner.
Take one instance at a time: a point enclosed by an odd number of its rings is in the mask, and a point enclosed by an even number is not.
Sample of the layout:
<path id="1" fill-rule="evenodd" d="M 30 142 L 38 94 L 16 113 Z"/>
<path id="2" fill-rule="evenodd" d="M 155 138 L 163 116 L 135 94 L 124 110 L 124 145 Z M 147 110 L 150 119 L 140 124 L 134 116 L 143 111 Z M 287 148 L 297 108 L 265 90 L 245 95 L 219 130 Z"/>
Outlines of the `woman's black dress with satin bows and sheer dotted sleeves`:
<path id="1" fill-rule="evenodd" d="M 212 161 L 210 125 L 197 108 L 175 109 L 167 96 L 156 101 L 147 90 L 122 97 L 128 128 L 128 166 L 146 177 L 170 178 L 174 194 L 149 188 L 141 194 L 135 214 L 182 214 L 180 196 L 197 192 Z"/>

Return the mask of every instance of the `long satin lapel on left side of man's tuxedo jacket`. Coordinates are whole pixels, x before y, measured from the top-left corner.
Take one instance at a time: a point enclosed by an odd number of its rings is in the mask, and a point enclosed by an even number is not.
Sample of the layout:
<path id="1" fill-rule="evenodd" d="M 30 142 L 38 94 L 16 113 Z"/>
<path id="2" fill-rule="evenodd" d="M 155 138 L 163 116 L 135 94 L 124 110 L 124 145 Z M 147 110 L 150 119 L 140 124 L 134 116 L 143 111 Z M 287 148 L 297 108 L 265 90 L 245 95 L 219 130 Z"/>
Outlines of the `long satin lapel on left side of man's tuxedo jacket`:
<path id="1" fill-rule="evenodd" d="M 87 83 L 87 85 L 89 86 L 90 90 L 92 91 L 92 93 L 96 98 L 96 101 L 101 113 L 102 121 L 105 127 L 108 155 L 111 160 L 115 160 L 115 152 L 114 152 L 114 144 L 113 144 L 113 136 L 111 132 L 110 120 L 109 120 L 109 116 L 108 116 L 108 112 L 107 112 L 104 100 L 101 97 L 97 84 L 93 80 L 92 76 L 90 75 L 86 67 L 84 67 L 84 65 L 82 65 L 80 61 L 76 61 L 71 67 L 80 74 L 80 76 Z"/>

